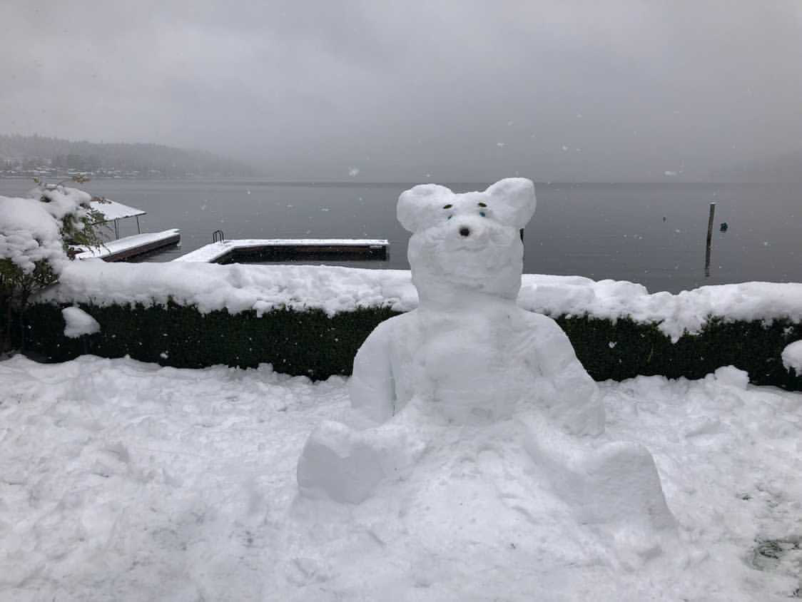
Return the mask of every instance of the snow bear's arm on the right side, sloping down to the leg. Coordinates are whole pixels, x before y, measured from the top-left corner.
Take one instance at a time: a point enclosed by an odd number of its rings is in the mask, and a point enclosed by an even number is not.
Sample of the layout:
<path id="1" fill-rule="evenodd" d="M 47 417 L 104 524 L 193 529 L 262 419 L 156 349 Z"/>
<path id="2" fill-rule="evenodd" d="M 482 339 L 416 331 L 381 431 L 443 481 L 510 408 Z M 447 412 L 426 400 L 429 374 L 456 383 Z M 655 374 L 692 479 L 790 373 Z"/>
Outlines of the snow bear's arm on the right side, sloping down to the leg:
<path id="1" fill-rule="evenodd" d="M 545 380 L 539 393 L 549 417 L 571 434 L 601 434 L 605 422 L 602 396 L 568 336 L 550 317 L 531 313 L 529 321 L 535 327 L 535 345 L 528 361 Z"/>

